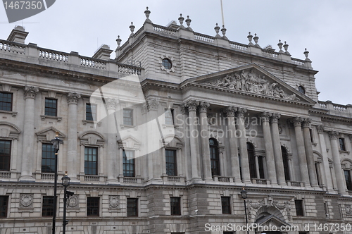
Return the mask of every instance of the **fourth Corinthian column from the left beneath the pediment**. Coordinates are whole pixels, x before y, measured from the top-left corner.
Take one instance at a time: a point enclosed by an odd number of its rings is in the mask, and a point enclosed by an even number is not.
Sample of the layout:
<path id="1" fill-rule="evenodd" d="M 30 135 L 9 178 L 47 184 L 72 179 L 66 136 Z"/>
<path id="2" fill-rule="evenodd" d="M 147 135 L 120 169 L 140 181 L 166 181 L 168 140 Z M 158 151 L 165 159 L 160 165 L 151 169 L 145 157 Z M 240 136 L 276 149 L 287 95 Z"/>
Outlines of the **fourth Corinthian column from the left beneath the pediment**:
<path id="1" fill-rule="evenodd" d="M 236 112 L 237 117 L 237 133 L 239 133 L 239 156 L 241 157 L 241 173 L 242 182 L 251 183 L 251 175 L 249 173 L 249 161 L 246 143 L 246 128 L 244 128 L 244 113 L 247 110 L 244 108 L 238 108 Z"/>

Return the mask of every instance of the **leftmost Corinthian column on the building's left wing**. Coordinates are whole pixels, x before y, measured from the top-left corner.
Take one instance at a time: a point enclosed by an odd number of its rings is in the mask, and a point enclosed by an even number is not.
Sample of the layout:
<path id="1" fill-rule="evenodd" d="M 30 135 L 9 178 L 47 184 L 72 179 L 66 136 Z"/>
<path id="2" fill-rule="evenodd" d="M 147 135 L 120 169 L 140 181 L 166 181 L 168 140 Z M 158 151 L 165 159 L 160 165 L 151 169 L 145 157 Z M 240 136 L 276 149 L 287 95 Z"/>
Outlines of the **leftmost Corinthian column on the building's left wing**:
<path id="1" fill-rule="evenodd" d="M 32 176 L 34 142 L 34 102 L 39 88 L 25 86 L 25 123 L 23 125 L 22 169 L 20 181 L 34 181 Z"/>

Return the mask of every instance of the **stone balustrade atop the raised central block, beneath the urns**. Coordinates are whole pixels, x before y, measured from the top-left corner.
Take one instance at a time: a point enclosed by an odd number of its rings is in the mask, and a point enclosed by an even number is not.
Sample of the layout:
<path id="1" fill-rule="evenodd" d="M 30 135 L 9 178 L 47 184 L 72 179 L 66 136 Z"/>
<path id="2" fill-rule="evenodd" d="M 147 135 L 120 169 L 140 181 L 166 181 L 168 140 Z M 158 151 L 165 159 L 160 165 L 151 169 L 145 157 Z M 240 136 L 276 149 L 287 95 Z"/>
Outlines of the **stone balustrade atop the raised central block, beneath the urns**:
<path id="1" fill-rule="evenodd" d="M 253 45 L 249 46 L 248 44 L 232 42 L 228 39 L 222 39 L 221 37 L 220 38 L 213 37 L 210 35 L 201 34 L 199 32 L 187 30 L 187 28 L 184 28 L 184 30 L 180 30 L 180 29 L 177 30 L 175 29 L 175 27 L 165 27 L 165 26 L 155 25 L 153 23 L 147 23 L 147 22 L 144 23 L 144 25 L 136 33 L 134 33 L 134 35 L 132 35 L 132 37 L 130 37 L 127 40 L 127 42 L 122 44 L 121 47 L 118 47 L 118 50 L 116 51 L 117 52 L 116 56 L 123 54 L 125 49 L 130 48 L 129 45 L 134 43 L 134 41 L 138 40 L 137 37 L 139 37 L 139 35 L 141 35 L 143 32 L 151 32 L 158 35 L 191 39 L 191 40 L 206 43 L 206 44 L 213 44 L 213 45 L 220 44 L 222 47 L 233 49 L 235 51 L 241 51 L 249 54 L 256 54 L 259 56 L 261 54 L 261 56 L 266 58 L 272 58 L 279 61 L 286 61 L 296 66 L 313 69 L 311 66 L 311 61 L 309 59 L 301 60 L 298 58 L 291 58 L 289 54 L 278 53 L 278 52 L 272 51 L 272 49 L 261 49 L 258 47 L 254 47 Z"/>

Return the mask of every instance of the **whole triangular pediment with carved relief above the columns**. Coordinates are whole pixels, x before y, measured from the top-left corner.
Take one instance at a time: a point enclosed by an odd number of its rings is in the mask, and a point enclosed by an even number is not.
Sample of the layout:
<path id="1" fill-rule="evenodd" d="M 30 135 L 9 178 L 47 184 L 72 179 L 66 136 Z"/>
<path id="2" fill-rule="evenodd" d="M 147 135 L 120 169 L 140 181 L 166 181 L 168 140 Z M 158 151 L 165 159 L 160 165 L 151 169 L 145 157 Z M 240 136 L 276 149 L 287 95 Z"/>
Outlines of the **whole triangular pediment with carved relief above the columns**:
<path id="1" fill-rule="evenodd" d="M 298 92 L 294 87 L 275 77 L 275 75 L 272 75 L 256 63 L 202 75 L 187 81 L 217 87 L 218 89 L 232 90 L 246 95 L 254 94 L 315 104 L 315 101 Z"/>

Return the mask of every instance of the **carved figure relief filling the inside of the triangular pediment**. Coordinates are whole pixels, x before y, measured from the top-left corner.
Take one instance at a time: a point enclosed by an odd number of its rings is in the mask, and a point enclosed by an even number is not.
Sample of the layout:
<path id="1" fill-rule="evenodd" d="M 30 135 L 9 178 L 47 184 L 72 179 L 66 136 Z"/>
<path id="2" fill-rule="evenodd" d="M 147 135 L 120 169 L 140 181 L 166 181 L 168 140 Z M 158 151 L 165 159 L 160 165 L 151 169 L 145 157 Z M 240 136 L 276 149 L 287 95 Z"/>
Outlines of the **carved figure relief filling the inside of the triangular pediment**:
<path id="1" fill-rule="evenodd" d="M 241 73 L 232 73 L 226 75 L 224 78 L 208 82 L 207 84 L 217 87 L 225 87 L 231 90 L 240 90 L 283 99 L 298 100 L 296 94 L 287 94 L 277 82 L 269 82 L 269 80 L 265 78 L 265 75 L 260 77 L 260 75 L 253 73 L 252 70 L 250 70 L 249 73 L 245 73 L 244 70 L 242 70 Z"/>

